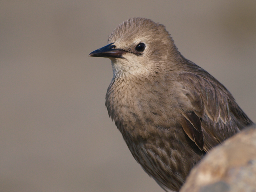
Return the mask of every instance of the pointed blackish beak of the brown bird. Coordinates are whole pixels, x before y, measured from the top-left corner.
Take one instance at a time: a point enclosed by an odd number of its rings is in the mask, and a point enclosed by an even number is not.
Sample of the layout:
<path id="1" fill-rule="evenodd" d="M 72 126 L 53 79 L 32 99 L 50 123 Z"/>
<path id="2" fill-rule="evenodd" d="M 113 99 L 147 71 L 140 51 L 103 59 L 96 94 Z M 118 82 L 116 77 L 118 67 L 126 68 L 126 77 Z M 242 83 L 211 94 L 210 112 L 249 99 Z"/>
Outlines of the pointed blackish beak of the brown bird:
<path id="1" fill-rule="evenodd" d="M 123 54 L 127 53 L 123 49 L 114 49 L 113 43 L 101 47 L 89 54 L 90 57 L 107 57 L 107 58 L 123 58 Z"/>

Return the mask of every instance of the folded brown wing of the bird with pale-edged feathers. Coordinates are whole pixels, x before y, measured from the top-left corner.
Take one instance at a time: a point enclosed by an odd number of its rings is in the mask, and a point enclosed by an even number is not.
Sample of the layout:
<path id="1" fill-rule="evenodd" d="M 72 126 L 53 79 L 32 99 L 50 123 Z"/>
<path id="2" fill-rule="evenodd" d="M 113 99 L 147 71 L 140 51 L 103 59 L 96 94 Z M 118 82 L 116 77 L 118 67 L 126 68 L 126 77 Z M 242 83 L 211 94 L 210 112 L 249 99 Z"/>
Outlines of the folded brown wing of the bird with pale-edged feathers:
<path id="1" fill-rule="evenodd" d="M 221 83 L 208 73 L 205 77 L 184 72 L 178 81 L 191 103 L 182 112 L 182 127 L 201 150 L 209 151 L 252 121 Z"/>

